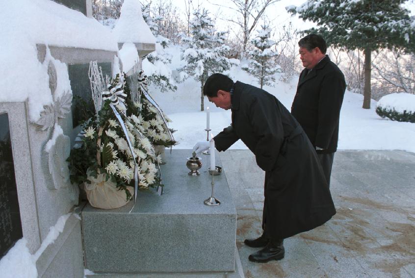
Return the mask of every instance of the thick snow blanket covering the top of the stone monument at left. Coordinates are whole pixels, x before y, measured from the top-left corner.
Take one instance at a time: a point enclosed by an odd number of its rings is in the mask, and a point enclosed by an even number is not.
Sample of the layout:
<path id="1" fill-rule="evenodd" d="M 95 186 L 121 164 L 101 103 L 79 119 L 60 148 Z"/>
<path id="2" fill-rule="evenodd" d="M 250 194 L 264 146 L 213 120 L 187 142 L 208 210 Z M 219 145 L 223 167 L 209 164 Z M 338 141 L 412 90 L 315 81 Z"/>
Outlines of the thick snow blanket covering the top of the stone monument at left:
<path id="1" fill-rule="evenodd" d="M 52 57 L 47 49 L 45 61 L 40 63 L 36 44 L 118 50 L 106 27 L 50 0 L 9 1 L 0 10 L 0 25 L 0 102 L 28 100 L 33 122 L 39 119 L 43 106 L 53 101 L 47 74 Z M 53 63 L 59 96 L 63 90 L 70 90 L 69 78 L 65 64 Z"/>

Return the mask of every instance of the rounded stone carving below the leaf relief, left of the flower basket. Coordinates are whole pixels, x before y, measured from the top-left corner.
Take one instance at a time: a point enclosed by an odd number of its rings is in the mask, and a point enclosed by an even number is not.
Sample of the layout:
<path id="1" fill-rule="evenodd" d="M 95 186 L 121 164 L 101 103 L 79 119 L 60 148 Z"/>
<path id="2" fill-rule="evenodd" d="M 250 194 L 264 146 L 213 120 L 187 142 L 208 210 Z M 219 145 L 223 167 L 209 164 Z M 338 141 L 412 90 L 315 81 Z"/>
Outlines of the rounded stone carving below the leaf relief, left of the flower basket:
<path id="1" fill-rule="evenodd" d="M 60 189 L 70 185 L 69 168 L 66 159 L 71 152 L 71 140 L 68 136 L 60 134 L 55 144 L 49 150 L 49 173 L 52 176 L 53 185 L 49 189 Z M 48 183 L 49 184 L 49 183 Z"/>

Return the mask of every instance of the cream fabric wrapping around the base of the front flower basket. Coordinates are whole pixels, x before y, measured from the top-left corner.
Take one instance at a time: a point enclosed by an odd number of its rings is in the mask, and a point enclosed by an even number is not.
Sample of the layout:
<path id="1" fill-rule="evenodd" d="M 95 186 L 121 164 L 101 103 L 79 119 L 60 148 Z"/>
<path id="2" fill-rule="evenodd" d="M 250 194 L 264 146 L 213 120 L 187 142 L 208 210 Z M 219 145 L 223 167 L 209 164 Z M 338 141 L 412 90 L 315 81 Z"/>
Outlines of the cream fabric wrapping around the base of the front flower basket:
<path id="1" fill-rule="evenodd" d="M 89 176 L 91 183 L 84 183 L 88 202 L 97 208 L 112 209 L 126 205 L 127 194 L 124 190 L 118 190 L 117 184 L 113 181 L 105 181 L 105 174 L 98 174 L 97 178 Z M 131 196 L 134 195 L 134 188 L 127 186 Z"/>

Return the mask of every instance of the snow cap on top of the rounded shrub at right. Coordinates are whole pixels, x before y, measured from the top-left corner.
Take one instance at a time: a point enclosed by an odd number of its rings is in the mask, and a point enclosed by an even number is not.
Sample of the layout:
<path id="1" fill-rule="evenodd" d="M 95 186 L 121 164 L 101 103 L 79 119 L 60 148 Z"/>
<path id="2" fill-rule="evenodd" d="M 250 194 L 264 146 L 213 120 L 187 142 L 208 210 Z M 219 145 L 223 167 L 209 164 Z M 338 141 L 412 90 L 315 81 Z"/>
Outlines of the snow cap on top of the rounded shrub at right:
<path id="1" fill-rule="evenodd" d="M 394 93 L 383 96 L 377 103 L 377 107 L 396 112 L 415 113 L 415 95 L 408 93 Z"/>

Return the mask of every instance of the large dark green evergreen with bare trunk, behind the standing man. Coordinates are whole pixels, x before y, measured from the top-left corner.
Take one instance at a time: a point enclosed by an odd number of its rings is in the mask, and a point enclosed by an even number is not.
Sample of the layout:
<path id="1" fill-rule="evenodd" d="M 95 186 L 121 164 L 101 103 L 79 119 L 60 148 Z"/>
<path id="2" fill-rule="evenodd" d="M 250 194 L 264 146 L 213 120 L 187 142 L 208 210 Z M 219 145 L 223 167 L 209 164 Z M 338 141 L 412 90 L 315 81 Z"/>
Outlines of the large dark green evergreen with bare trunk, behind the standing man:
<path id="1" fill-rule="evenodd" d="M 364 51 L 363 108 L 370 108 L 371 53 L 392 47 L 415 51 L 415 24 L 406 0 L 308 0 L 287 10 L 317 23 L 305 33 L 320 33 L 328 44 Z"/>

